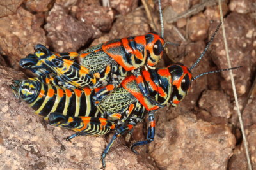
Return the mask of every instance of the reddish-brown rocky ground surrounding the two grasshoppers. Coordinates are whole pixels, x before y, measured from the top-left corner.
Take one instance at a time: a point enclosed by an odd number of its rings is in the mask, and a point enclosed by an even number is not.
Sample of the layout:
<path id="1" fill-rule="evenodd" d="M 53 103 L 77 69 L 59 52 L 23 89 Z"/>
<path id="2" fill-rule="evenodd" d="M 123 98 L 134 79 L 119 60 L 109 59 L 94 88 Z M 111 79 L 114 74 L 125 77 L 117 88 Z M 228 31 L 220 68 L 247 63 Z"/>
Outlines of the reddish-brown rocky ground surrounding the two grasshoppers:
<path id="1" fill-rule="evenodd" d="M 81 136 L 48 125 L 28 104 L 15 99 L 12 80 L 31 72 L 19 60 L 37 43 L 52 52 L 81 52 L 110 39 L 160 32 L 158 3 L 153 0 L 3 0 L 0 3 L 0 169 L 100 169 L 100 155 L 113 134 Z M 192 66 L 220 24 L 218 1 L 162 0 L 166 46 L 157 67 L 172 62 Z M 225 32 L 239 108 L 256 168 L 256 1 L 222 1 Z M 192 70 L 193 76 L 227 68 L 220 29 Z M 150 145 L 129 147 L 145 139 L 147 119 L 131 136 L 117 139 L 106 157 L 106 169 L 247 169 L 244 141 L 227 72 L 193 81 L 176 108 L 156 113 L 156 136 Z"/>

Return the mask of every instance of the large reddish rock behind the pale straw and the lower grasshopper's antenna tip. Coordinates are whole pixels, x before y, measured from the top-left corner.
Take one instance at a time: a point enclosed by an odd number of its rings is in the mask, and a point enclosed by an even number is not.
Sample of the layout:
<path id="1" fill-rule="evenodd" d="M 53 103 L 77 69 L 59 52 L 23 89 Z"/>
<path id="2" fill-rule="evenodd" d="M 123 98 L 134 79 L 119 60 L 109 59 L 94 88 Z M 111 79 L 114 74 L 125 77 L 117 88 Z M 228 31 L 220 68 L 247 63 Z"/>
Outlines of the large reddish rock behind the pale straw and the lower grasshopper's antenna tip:
<path id="1" fill-rule="evenodd" d="M 210 32 L 214 32 L 217 23 L 210 27 Z M 225 32 L 228 42 L 229 55 L 232 67 L 243 66 L 233 71 L 236 81 L 236 89 L 239 95 L 244 94 L 250 85 L 250 76 L 255 71 L 255 57 L 253 58 L 253 39 L 255 39 L 255 27 L 250 18 L 238 14 L 231 13 L 225 18 Z M 223 42 L 222 30 L 216 34 L 216 38 L 211 46 L 212 61 L 219 69 L 227 68 L 227 57 Z M 230 85 L 230 73 L 228 71 L 221 72 L 225 80 L 221 83 L 221 87 L 229 95 L 233 95 Z"/>

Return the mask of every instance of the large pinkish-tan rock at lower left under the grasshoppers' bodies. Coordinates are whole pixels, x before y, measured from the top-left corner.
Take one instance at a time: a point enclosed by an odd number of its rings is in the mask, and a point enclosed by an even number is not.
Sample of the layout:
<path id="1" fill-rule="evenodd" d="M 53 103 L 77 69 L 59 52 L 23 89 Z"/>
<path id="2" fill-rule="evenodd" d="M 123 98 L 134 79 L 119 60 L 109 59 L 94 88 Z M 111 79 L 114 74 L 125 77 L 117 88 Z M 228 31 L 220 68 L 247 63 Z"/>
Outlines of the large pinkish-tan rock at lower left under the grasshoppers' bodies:
<path id="1" fill-rule="evenodd" d="M 73 131 L 52 127 L 15 99 L 9 85 L 24 74 L 0 66 L 0 159 L 1 169 L 100 169 L 105 136 L 80 136 L 71 143 Z M 106 156 L 106 169 L 153 169 L 147 156 L 134 154 L 118 138 Z"/>

